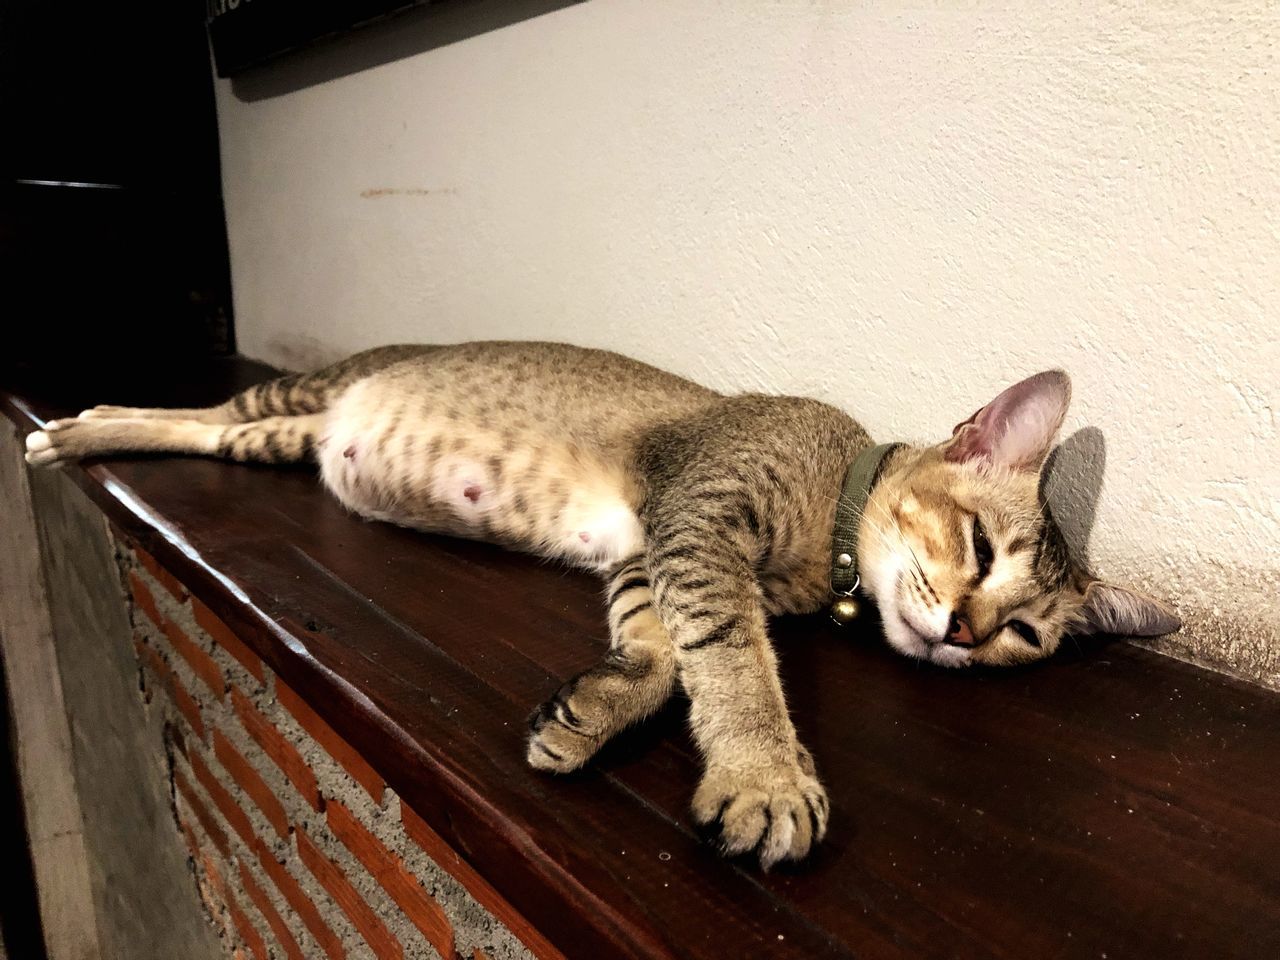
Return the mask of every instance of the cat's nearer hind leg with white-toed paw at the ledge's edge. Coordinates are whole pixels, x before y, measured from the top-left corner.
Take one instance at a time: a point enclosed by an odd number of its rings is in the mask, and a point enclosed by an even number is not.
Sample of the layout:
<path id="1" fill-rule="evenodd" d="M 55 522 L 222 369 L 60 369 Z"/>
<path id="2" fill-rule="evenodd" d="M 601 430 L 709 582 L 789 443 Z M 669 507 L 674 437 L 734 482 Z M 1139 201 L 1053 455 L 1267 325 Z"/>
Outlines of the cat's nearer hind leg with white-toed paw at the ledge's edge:
<path id="1" fill-rule="evenodd" d="M 36 466 L 114 453 L 196 453 L 259 463 L 312 458 L 321 415 L 269 417 L 251 424 L 196 420 L 51 420 L 27 435 Z"/>

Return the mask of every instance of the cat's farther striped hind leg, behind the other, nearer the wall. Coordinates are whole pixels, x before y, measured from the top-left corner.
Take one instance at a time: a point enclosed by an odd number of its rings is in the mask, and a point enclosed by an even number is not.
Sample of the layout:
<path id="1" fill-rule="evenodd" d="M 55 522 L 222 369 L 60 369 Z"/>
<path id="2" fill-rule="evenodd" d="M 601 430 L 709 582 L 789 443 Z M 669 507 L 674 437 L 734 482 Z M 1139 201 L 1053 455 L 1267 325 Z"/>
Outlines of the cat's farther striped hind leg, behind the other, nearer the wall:
<path id="1" fill-rule="evenodd" d="M 201 424 L 251 424 L 268 417 L 323 413 L 356 380 L 434 347 L 375 347 L 320 370 L 289 374 L 241 390 L 216 407 L 113 407 L 99 406 L 81 413 L 82 420 L 193 420 Z"/>

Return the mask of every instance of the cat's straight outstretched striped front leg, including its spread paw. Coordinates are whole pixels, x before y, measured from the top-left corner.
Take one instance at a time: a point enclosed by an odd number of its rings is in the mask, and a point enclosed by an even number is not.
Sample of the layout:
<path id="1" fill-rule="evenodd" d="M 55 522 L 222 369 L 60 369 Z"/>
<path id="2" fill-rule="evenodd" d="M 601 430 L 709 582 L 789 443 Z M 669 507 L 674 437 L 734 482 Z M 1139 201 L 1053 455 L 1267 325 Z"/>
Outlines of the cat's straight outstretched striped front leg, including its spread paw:
<path id="1" fill-rule="evenodd" d="M 822 840 L 828 803 L 787 714 L 767 635 L 755 576 L 760 524 L 748 520 L 764 511 L 750 492 L 716 483 L 719 494 L 694 486 L 657 502 L 648 562 L 707 763 L 694 818 L 726 854 L 754 852 L 768 869 Z"/>

